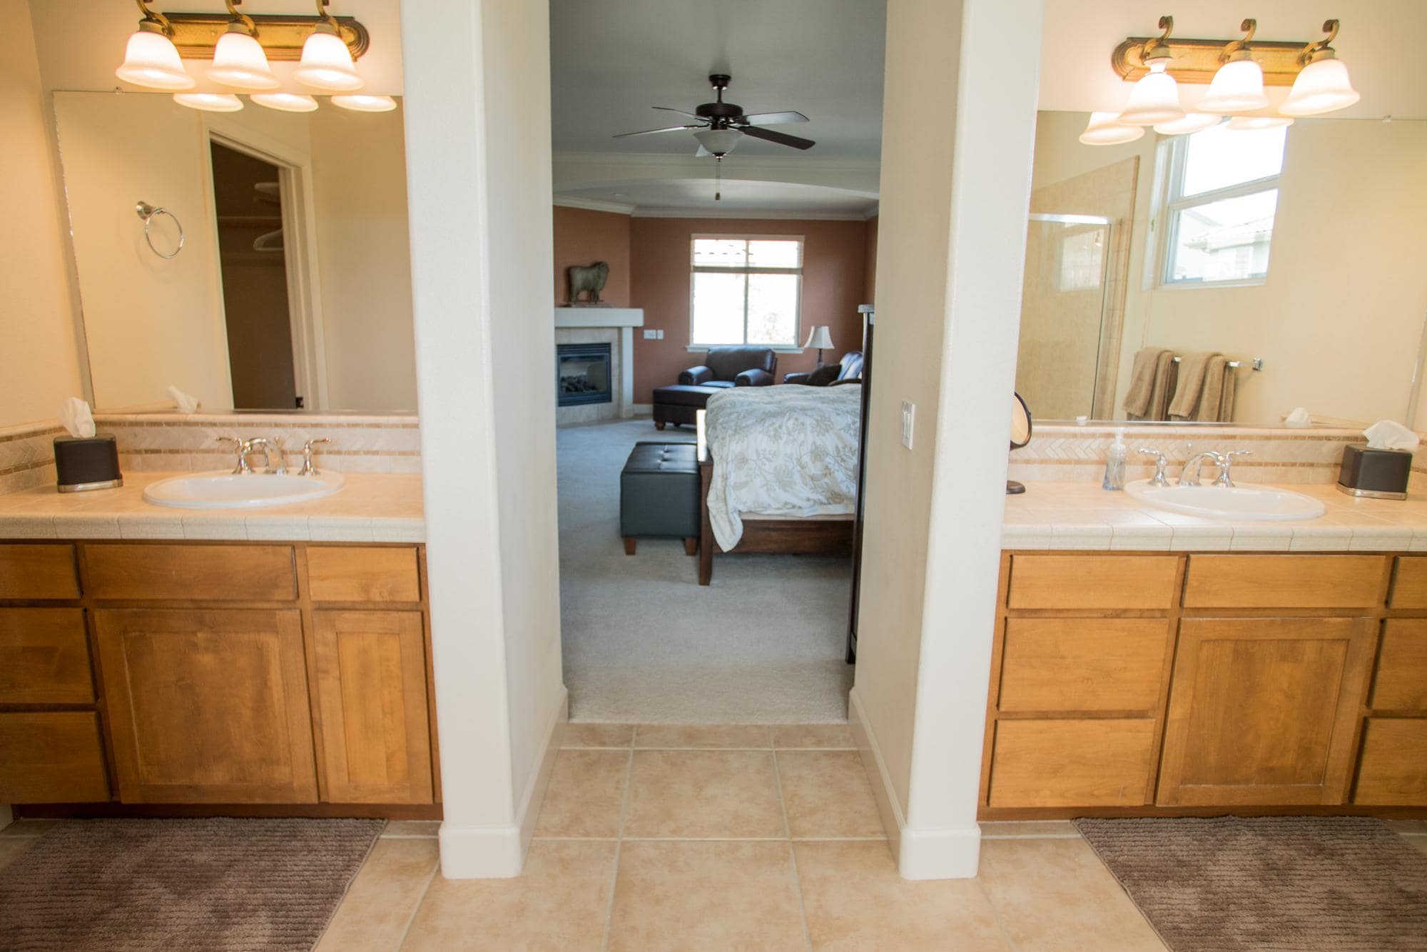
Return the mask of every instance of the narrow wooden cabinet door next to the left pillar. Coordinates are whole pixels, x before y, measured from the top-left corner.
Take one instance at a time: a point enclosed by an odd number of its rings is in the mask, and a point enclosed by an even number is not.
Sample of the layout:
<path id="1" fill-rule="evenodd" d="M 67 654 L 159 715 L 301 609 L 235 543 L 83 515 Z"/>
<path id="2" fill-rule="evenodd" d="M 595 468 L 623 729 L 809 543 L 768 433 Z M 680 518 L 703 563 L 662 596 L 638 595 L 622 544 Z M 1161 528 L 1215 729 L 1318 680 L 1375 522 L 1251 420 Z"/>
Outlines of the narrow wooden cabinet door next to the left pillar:
<path id="1" fill-rule="evenodd" d="M 320 611 L 314 618 L 323 799 L 430 804 L 421 612 Z"/>

